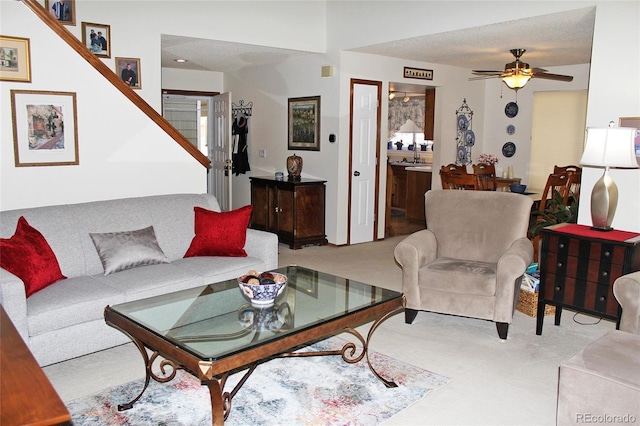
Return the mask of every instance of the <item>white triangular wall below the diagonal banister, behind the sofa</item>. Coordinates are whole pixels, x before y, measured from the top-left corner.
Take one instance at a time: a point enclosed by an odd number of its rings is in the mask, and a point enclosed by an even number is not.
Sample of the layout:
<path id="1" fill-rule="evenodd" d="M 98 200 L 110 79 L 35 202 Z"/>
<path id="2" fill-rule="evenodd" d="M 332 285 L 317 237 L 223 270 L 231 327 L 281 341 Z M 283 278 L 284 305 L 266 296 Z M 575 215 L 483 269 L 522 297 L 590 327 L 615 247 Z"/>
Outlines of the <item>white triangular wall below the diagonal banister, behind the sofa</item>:
<path id="1" fill-rule="evenodd" d="M 205 167 L 135 108 L 26 6 L 3 1 L 0 19 L 2 34 L 30 39 L 32 74 L 31 83 L 3 81 L 0 84 L 2 210 L 173 192 L 206 192 Z M 142 82 L 145 84 L 144 79 Z M 79 165 L 15 167 L 11 90 L 76 93 Z"/>

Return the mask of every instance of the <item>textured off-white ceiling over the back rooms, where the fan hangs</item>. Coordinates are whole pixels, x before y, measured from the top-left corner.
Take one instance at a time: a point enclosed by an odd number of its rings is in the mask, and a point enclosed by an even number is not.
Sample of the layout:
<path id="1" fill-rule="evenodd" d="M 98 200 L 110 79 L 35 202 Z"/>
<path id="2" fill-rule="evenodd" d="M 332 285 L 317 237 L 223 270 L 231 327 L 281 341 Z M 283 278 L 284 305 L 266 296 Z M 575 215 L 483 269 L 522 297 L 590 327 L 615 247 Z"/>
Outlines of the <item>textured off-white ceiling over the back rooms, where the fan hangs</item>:
<path id="1" fill-rule="evenodd" d="M 524 48 L 532 67 L 585 64 L 591 61 L 595 8 L 543 15 L 458 31 L 431 34 L 351 49 L 411 61 L 469 69 L 503 70 L 513 61 L 510 49 Z M 265 46 L 162 36 L 162 66 L 228 72 L 281 62 L 310 52 Z M 179 64 L 177 58 L 189 62 Z"/>

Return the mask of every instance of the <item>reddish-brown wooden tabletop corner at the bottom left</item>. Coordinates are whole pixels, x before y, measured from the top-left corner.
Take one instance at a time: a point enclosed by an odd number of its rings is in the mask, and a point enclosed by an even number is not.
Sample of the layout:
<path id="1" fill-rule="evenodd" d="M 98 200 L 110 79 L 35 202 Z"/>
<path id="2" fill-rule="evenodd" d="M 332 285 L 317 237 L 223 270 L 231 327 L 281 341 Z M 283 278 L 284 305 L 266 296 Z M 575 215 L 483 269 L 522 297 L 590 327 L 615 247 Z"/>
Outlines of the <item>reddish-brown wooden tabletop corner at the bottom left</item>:
<path id="1" fill-rule="evenodd" d="M 0 306 L 0 425 L 71 424 L 67 407 Z"/>

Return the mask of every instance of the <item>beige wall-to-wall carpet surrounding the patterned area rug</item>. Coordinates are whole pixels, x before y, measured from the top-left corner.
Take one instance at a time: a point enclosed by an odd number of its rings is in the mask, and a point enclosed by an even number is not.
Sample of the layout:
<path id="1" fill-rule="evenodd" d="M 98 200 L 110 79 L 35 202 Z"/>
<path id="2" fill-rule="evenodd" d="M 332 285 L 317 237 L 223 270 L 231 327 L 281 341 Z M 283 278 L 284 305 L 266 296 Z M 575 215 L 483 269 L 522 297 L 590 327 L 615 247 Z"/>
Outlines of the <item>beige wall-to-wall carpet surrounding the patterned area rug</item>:
<path id="1" fill-rule="evenodd" d="M 401 270 L 393 249 L 403 237 L 350 247 L 280 244 L 280 265 L 298 264 L 346 278 L 401 290 Z M 500 341 L 489 321 L 420 312 L 411 325 L 402 314 L 375 332 L 371 349 L 451 382 L 385 425 L 552 425 L 555 424 L 558 366 L 584 346 L 613 330 L 611 321 L 565 310 L 562 324 L 545 317 L 542 336 L 535 319 L 516 312 L 509 338 Z M 368 326 L 359 330 L 366 334 Z M 64 401 L 96 393 L 144 376 L 132 344 L 48 366 Z M 275 423 L 274 423 L 275 424 Z"/>

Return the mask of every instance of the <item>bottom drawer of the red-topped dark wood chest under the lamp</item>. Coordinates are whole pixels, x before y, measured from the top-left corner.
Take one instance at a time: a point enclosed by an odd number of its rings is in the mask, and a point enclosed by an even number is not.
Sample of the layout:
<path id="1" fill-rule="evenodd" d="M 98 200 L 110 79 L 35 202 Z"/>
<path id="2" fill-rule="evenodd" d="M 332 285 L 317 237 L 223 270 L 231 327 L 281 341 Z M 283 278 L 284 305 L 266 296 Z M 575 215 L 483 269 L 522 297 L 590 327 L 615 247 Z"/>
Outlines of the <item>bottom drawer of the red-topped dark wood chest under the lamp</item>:
<path id="1" fill-rule="evenodd" d="M 613 317 L 618 315 L 611 285 L 547 273 L 544 286 L 546 300 Z"/>

